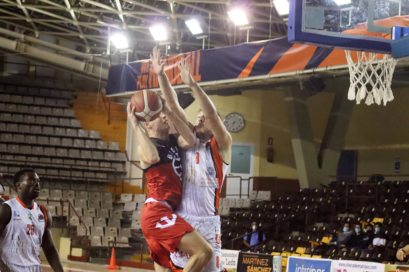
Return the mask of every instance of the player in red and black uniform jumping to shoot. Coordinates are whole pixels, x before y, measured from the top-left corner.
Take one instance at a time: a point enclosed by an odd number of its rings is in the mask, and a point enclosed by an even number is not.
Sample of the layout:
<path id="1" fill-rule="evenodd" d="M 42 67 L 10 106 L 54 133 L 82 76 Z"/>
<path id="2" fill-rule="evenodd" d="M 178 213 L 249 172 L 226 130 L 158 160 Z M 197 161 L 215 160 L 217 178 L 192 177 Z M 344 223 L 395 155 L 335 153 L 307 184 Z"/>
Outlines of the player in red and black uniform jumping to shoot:
<path id="1" fill-rule="evenodd" d="M 191 254 L 183 271 L 201 271 L 213 255 L 209 243 L 174 210 L 181 197 L 182 168 L 179 147 L 194 142 L 193 133 L 162 99 L 160 117 L 144 122 L 149 138 L 139 126 L 135 107 L 128 103 L 128 118 L 139 140 L 137 153 L 148 179 L 148 194 L 142 208 L 141 228 L 151 251 L 155 271 L 171 272 L 170 253 L 179 248 Z M 169 135 L 167 119 L 174 124 L 180 135 Z"/>

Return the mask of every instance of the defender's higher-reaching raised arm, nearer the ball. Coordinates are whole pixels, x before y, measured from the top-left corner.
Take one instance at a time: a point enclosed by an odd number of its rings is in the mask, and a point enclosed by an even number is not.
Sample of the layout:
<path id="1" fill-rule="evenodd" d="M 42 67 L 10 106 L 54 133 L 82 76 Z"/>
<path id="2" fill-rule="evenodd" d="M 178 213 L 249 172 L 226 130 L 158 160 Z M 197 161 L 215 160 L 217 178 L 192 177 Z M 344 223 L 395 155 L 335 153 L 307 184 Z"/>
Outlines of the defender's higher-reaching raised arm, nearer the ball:
<path id="1" fill-rule="evenodd" d="M 151 63 L 153 66 L 153 71 L 157 74 L 160 91 L 166 100 L 166 104 L 185 124 L 189 125 L 186 113 L 179 105 L 178 95 L 176 95 L 171 82 L 169 82 L 169 79 L 164 72 L 165 63 L 160 63 L 160 49 L 157 49 L 156 46 L 153 48 L 153 52 L 151 54 Z M 190 126 L 191 129 L 193 129 L 193 125 L 190 124 Z"/>

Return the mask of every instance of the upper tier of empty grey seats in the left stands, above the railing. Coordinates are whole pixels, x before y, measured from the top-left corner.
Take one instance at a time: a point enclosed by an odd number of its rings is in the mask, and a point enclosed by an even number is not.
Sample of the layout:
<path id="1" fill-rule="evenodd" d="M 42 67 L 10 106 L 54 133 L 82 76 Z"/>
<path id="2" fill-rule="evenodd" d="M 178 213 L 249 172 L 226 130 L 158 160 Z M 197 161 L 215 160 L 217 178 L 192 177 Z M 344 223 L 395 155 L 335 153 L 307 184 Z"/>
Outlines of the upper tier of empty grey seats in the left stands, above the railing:
<path id="1" fill-rule="evenodd" d="M 71 90 L 0 85 L 0 170 L 29 166 L 42 178 L 101 182 L 121 177 L 126 155 L 81 127 Z"/>

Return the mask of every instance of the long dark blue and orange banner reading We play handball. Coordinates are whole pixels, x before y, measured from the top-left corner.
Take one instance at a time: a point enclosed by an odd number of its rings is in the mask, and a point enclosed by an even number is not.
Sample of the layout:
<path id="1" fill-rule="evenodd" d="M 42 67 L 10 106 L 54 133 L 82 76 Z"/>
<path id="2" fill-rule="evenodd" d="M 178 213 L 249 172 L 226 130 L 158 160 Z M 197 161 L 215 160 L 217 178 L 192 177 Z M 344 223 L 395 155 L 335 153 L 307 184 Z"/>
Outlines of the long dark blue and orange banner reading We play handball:
<path id="1" fill-rule="evenodd" d="M 176 62 L 191 63 L 197 82 L 286 73 L 346 64 L 344 50 L 289 43 L 287 37 L 163 57 L 172 85 L 182 84 Z M 159 87 L 149 60 L 110 67 L 107 94 Z"/>

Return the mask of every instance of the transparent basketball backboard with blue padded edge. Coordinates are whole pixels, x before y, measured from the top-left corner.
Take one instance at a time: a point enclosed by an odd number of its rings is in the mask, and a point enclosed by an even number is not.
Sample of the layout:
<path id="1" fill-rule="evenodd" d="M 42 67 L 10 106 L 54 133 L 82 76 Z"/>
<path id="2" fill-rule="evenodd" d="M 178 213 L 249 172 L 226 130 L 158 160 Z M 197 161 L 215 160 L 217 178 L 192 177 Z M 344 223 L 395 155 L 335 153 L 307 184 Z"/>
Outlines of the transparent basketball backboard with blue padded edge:
<path id="1" fill-rule="evenodd" d="M 409 27 L 409 0 L 290 0 L 289 42 L 391 54 L 393 26 Z"/>

